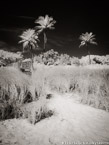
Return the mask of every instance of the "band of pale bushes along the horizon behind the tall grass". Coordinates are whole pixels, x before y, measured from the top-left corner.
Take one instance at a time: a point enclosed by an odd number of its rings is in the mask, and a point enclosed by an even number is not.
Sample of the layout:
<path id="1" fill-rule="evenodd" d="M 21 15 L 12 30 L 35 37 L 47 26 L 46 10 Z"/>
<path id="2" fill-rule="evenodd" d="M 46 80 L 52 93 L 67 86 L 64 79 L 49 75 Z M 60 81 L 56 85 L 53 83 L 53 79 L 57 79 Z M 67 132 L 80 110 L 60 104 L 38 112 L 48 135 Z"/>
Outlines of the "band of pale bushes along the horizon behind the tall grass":
<path id="1" fill-rule="evenodd" d="M 99 56 L 99 55 L 90 55 L 91 64 L 109 64 L 109 55 Z M 25 60 L 21 52 L 12 53 L 4 50 L 0 50 L 0 65 L 5 63 L 6 66 L 13 65 L 21 60 Z M 76 65 L 76 66 L 85 66 L 89 64 L 88 56 L 82 56 L 80 59 L 78 57 L 69 56 L 68 54 L 59 54 L 53 49 L 48 50 L 44 53 L 34 56 L 34 64 L 45 64 L 45 65 Z"/>

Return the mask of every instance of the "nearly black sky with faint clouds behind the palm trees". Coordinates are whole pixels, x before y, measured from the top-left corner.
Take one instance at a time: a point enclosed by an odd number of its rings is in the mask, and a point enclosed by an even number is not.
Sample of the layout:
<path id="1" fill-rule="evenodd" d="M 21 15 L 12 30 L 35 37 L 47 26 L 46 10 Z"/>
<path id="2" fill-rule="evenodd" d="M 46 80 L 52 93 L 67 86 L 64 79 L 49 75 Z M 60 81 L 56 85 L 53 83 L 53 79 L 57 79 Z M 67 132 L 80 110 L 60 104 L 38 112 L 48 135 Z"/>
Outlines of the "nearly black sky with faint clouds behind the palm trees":
<path id="1" fill-rule="evenodd" d="M 63 52 L 78 55 L 80 51 L 77 49 L 80 43 L 78 37 L 81 33 L 88 31 L 96 34 L 99 44 L 92 53 L 109 54 L 108 10 L 108 3 L 104 0 L 3 0 L 0 3 L 0 39 L 6 37 L 14 45 L 18 40 L 17 34 L 21 33 L 24 28 L 34 27 L 34 20 L 38 16 L 49 14 L 57 21 L 56 29 L 49 32 L 50 40 L 55 38 L 58 41 L 59 37 L 60 41 L 65 42 L 68 39 L 65 44 L 63 43 L 64 48 L 59 48 Z M 84 53 L 85 50 L 82 51 Z"/>

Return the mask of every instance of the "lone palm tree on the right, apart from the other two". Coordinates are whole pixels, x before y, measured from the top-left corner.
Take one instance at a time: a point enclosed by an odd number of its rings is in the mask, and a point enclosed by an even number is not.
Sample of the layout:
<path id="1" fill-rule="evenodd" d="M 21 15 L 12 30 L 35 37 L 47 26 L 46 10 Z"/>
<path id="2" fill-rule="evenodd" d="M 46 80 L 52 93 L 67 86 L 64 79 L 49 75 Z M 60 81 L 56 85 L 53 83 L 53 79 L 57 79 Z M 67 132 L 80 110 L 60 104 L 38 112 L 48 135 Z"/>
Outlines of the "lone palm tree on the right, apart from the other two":
<path id="1" fill-rule="evenodd" d="M 82 35 L 80 35 L 79 39 L 81 40 L 81 44 L 79 45 L 79 47 L 81 46 L 86 46 L 87 50 L 88 50 L 88 55 L 89 55 L 89 64 L 91 64 L 91 59 L 90 59 L 90 51 L 89 51 L 89 44 L 95 44 L 97 45 L 97 43 L 94 41 L 95 40 L 95 35 L 93 35 L 92 32 L 88 33 L 86 32 L 85 34 L 82 33 Z"/>

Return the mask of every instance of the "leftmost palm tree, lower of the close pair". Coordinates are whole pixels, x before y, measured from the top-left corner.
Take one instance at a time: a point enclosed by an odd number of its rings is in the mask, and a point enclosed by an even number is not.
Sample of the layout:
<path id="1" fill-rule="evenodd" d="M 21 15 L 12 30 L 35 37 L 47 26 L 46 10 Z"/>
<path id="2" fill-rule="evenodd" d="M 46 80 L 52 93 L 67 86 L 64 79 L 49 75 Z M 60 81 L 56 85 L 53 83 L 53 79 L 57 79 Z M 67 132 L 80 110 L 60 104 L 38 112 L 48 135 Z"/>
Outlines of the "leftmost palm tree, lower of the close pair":
<path id="1" fill-rule="evenodd" d="M 19 37 L 22 39 L 21 41 L 19 41 L 19 43 L 23 43 L 23 52 L 25 51 L 25 49 L 31 52 L 31 61 L 33 69 L 34 58 L 32 51 L 36 49 L 36 47 L 38 47 L 37 44 L 37 41 L 39 41 L 38 35 L 37 33 L 35 33 L 34 29 L 27 29 Z"/>

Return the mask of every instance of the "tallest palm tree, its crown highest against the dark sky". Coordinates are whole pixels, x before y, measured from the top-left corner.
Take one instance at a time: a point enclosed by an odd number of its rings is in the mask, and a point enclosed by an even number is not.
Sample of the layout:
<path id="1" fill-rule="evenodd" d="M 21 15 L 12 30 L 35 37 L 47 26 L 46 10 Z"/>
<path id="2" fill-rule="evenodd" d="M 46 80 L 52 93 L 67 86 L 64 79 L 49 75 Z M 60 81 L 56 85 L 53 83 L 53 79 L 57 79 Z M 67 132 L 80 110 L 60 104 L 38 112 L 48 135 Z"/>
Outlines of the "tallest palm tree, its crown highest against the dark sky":
<path id="1" fill-rule="evenodd" d="M 35 27 L 37 32 L 38 33 L 43 32 L 43 35 L 44 35 L 44 48 L 43 48 L 43 50 L 45 51 L 46 43 L 47 43 L 46 30 L 47 29 L 50 29 L 50 30 L 55 29 L 53 26 L 56 23 L 56 21 L 53 20 L 53 17 L 49 17 L 48 15 L 45 15 L 45 17 L 39 16 L 39 18 L 37 20 L 35 20 L 35 23 L 38 24 L 38 26 Z"/>

